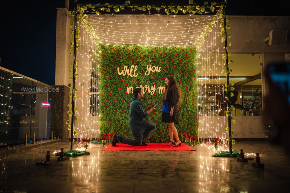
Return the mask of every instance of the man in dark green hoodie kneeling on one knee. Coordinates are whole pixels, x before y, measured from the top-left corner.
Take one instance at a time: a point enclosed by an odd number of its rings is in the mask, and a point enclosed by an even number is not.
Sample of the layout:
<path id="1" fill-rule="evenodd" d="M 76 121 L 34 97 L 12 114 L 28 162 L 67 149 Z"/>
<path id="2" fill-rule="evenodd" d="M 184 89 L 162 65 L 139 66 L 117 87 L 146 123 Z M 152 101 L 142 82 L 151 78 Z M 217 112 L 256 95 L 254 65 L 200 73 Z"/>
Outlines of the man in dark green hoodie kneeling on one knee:
<path id="1" fill-rule="evenodd" d="M 141 88 L 135 88 L 133 90 L 133 95 L 134 97 L 131 99 L 132 102 L 130 104 L 129 110 L 129 127 L 134 137 L 134 140 L 114 134 L 112 139 L 113 146 L 116 146 L 117 142 L 133 146 L 147 145 L 143 142 L 143 139 L 145 139 L 156 128 L 156 125 L 154 123 L 144 121 L 143 118 L 146 118 L 153 111 L 155 111 L 157 109 L 157 106 L 152 107 L 153 102 L 150 102 L 149 106 L 146 109 L 144 108 L 143 103 L 141 102 L 141 99 L 144 98 Z"/>

